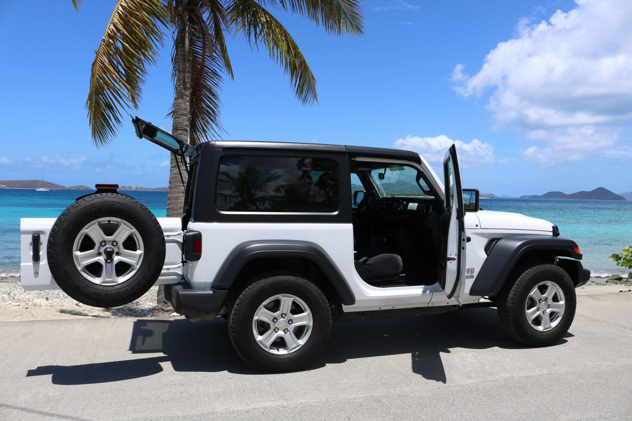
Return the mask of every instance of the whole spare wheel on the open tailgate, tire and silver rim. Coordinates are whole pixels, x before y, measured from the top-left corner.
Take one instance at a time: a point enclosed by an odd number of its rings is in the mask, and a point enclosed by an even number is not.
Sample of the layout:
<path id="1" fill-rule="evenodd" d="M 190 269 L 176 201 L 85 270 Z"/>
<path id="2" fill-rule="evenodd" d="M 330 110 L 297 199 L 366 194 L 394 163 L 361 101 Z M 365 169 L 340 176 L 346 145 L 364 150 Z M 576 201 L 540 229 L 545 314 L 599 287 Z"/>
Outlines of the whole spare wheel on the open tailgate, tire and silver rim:
<path id="1" fill-rule="evenodd" d="M 119 193 L 77 199 L 59 215 L 47 244 L 59 287 L 82 304 L 116 307 L 154 285 L 165 256 L 164 235 L 151 211 Z"/>

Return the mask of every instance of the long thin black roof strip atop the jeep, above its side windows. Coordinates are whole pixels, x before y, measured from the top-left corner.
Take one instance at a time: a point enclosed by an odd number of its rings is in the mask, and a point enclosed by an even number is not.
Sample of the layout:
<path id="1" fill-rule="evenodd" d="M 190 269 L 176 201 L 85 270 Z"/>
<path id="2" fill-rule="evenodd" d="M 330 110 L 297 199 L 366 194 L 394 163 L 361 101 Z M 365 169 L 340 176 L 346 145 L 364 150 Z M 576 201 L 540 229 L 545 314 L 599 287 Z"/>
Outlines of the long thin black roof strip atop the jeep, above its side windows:
<path id="1" fill-rule="evenodd" d="M 211 148 L 215 150 L 228 149 L 265 149 L 283 151 L 312 151 L 312 152 L 338 152 L 348 153 L 352 157 L 393 157 L 413 162 L 420 162 L 418 153 L 413 151 L 371 148 L 369 146 L 327 145 L 323 143 L 298 143 L 298 142 L 258 142 L 258 141 L 210 141 L 196 146 L 198 150 Z"/>

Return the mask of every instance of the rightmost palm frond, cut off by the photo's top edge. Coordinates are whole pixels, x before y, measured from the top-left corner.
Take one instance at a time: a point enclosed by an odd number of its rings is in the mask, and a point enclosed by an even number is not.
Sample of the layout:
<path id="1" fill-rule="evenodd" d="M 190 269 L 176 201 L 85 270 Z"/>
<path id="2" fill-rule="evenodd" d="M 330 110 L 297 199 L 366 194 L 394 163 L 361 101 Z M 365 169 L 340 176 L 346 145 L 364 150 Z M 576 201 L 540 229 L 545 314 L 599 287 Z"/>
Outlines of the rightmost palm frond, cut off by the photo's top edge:
<path id="1" fill-rule="evenodd" d="M 262 0 L 260 3 L 308 18 L 329 33 L 348 33 L 354 37 L 364 33 L 362 0 Z"/>

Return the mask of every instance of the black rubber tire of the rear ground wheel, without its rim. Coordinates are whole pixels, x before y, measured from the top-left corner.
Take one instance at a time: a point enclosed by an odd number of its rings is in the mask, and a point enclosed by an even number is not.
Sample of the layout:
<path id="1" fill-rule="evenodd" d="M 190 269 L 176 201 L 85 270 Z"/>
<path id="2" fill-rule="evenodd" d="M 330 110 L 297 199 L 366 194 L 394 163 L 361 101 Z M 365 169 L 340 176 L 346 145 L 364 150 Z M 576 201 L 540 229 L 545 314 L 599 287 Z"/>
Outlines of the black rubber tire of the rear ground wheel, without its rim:
<path id="1" fill-rule="evenodd" d="M 327 298 L 312 282 L 296 275 L 261 275 L 241 292 L 231 309 L 228 330 L 241 358 L 254 369 L 266 372 L 298 370 L 322 352 L 331 329 L 331 309 Z M 253 333 L 253 317 L 258 307 L 277 294 L 291 294 L 303 300 L 312 312 L 312 333 L 295 352 L 276 355 L 258 345 Z"/>

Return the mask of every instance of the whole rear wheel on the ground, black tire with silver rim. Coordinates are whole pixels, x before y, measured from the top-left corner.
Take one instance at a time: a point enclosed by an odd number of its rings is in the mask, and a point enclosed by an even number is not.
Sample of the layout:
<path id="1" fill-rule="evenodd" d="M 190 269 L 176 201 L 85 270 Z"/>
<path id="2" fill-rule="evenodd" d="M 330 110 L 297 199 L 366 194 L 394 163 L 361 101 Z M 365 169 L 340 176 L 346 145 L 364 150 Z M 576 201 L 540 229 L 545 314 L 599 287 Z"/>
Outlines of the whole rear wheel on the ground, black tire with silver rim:
<path id="1" fill-rule="evenodd" d="M 231 341 L 260 371 L 300 369 L 325 347 L 331 309 L 322 291 L 294 275 L 260 276 L 236 300 L 228 317 Z"/>

